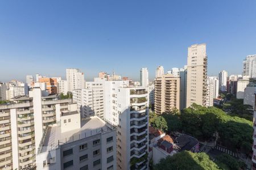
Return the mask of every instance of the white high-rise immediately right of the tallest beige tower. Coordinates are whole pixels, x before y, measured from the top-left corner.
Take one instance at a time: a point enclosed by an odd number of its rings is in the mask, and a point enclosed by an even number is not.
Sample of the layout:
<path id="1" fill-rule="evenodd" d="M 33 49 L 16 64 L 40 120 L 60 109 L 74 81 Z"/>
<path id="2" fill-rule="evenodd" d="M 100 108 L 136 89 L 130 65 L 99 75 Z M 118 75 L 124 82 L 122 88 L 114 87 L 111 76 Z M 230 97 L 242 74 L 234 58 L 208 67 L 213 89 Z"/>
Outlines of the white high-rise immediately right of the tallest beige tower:
<path id="1" fill-rule="evenodd" d="M 207 77 L 207 90 L 208 90 L 208 100 L 207 106 L 213 106 L 213 99 L 218 98 L 218 78 L 217 76 Z"/>

